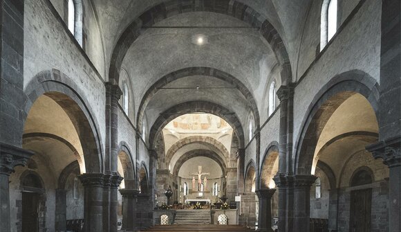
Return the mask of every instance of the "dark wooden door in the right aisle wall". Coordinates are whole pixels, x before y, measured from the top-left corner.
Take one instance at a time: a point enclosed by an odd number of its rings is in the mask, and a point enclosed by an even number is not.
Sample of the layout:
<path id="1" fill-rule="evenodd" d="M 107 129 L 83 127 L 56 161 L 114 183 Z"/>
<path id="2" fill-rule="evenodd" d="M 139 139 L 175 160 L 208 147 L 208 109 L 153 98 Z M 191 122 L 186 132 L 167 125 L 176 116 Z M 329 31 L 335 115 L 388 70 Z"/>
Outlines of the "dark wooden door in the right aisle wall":
<path id="1" fill-rule="evenodd" d="M 350 232 L 371 231 L 372 190 L 351 191 Z"/>

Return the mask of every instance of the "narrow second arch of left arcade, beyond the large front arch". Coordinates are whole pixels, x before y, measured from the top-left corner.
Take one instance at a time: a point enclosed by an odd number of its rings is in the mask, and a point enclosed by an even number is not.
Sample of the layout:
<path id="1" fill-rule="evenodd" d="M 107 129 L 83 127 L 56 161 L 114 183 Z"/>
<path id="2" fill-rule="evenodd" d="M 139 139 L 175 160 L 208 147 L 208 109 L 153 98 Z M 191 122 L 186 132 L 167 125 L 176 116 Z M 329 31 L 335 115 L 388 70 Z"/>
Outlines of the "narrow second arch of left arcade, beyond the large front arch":
<path id="1" fill-rule="evenodd" d="M 133 156 L 129 150 L 129 146 L 124 141 L 118 145 L 118 158 L 122 163 L 124 170 L 125 188 L 135 188 L 135 169 L 133 166 Z"/>

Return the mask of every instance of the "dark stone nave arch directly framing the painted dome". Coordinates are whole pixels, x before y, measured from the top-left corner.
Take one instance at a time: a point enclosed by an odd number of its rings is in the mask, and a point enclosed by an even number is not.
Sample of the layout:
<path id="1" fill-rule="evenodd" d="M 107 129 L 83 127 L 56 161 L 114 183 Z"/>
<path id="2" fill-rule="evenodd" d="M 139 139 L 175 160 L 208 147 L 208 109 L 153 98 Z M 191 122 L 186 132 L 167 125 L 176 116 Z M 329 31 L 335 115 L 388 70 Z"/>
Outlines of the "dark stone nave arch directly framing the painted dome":
<path id="1" fill-rule="evenodd" d="M 205 112 L 207 114 L 214 114 L 223 118 L 227 123 L 230 124 L 232 129 L 234 130 L 234 134 L 239 137 L 239 144 L 243 148 L 244 145 L 244 135 L 243 135 L 243 127 L 239 121 L 239 118 L 235 113 L 230 112 L 225 107 L 221 105 L 217 105 L 212 102 L 206 101 L 192 101 L 192 102 L 184 102 L 170 109 L 164 111 L 160 116 L 156 119 L 155 123 L 151 127 L 149 133 L 149 148 L 153 148 L 155 144 L 155 139 L 157 135 L 161 132 L 161 130 L 174 118 L 183 115 L 189 114 L 193 112 Z"/>

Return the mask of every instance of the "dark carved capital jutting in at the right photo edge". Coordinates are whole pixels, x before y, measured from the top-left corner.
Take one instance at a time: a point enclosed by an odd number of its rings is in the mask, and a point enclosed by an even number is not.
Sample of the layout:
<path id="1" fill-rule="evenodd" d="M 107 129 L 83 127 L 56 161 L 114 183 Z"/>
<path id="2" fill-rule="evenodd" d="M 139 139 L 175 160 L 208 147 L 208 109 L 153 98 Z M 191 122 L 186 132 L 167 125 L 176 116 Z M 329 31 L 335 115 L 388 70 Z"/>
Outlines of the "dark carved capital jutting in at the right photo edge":
<path id="1" fill-rule="evenodd" d="M 366 146 L 366 150 L 372 152 L 373 158 L 383 159 L 383 163 L 389 168 L 401 166 L 400 149 L 401 136 Z"/>

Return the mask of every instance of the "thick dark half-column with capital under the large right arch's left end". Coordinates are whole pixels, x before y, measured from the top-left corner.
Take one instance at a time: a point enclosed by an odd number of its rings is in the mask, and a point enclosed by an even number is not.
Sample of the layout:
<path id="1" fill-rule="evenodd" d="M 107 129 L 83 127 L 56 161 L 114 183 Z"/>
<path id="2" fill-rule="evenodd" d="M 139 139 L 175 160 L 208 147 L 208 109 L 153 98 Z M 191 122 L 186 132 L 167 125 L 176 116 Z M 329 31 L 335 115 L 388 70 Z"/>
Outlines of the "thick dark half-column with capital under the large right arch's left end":
<path id="1" fill-rule="evenodd" d="M 294 221 L 293 229 L 309 231 L 310 186 L 315 183 L 313 175 L 295 175 L 294 183 Z"/>

